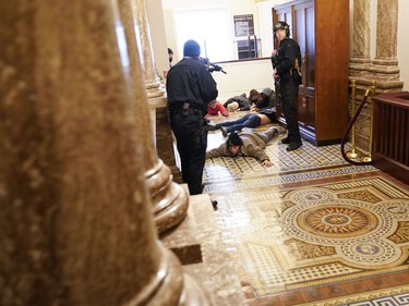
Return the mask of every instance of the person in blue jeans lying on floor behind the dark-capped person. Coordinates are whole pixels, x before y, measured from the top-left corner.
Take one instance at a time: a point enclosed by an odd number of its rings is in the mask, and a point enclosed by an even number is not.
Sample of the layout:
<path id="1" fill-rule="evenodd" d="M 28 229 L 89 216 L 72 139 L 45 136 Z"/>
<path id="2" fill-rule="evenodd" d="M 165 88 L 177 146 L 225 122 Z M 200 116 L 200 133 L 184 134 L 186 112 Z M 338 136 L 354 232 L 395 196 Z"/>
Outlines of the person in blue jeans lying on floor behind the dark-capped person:
<path id="1" fill-rule="evenodd" d="M 217 124 L 209 124 L 209 130 L 221 130 L 222 136 L 227 135 L 233 131 L 241 131 L 243 127 L 257 127 L 263 124 L 277 122 L 276 119 L 276 109 L 266 108 L 262 109 L 258 112 L 250 112 L 238 120 L 225 121 Z"/>

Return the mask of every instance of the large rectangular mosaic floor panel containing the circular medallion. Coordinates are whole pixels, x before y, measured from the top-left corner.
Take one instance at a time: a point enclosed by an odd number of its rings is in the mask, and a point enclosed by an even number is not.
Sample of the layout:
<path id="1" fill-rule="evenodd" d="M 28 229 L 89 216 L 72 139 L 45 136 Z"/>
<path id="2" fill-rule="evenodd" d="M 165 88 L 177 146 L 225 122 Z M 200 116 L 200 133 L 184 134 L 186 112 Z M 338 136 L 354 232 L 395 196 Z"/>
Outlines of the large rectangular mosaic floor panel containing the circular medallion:
<path id="1" fill-rule="evenodd" d="M 409 268 L 409 193 L 384 178 L 217 199 L 256 296 Z"/>

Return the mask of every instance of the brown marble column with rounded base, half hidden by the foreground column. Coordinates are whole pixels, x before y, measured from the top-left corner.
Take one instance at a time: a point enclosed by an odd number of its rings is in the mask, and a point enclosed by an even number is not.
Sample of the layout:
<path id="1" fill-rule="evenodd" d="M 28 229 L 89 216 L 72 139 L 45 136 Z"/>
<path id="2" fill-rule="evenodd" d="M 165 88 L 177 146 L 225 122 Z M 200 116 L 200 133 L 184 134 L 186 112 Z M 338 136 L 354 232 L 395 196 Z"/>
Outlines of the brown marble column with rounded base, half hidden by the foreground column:
<path id="1" fill-rule="evenodd" d="M 130 64 L 125 70 L 130 72 L 134 94 L 137 95 L 139 93 L 145 93 L 146 95 L 146 78 L 142 86 L 139 82 L 140 78 L 143 79 L 144 76 L 147 75 L 146 69 L 144 70 L 144 73 L 141 70 L 140 59 L 143 59 L 143 62 L 145 62 L 145 68 L 148 66 L 145 57 L 143 58 L 140 56 L 139 51 L 141 49 L 143 50 L 143 53 L 148 51 L 145 50 L 145 48 L 139 49 L 139 46 L 142 46 L 141 40 L 143 35 L 141 32 L 144 32 L 141 30 L 141 26 L 135 23 L 133 14 L 133 12 L 139 11 L 139 9 L 136 10 L 136 3 L 133 0 L 120 0 L 119 3 L 127 37 L 125 40 Z M 163 234 L 184 219 L 189 207 L 189 194 L 185 188 L 172 181 L 172 174 L 169 167 L 157 156 L 149 108 L 145 100 L 141 100 L 141 102 L 136 105 L 135 120 L 139 125 L 139 139 L 144 148 L 143 158 L 145 160 L 145 176 L 153 199 L 155 220 L 159 234 Z"/>

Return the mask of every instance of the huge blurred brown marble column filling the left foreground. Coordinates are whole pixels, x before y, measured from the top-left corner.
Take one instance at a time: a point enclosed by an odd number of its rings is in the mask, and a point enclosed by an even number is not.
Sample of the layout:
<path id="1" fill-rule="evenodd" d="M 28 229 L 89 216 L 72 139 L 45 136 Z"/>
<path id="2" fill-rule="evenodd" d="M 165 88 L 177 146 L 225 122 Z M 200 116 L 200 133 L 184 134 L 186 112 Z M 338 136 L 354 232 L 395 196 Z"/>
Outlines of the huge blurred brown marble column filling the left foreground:
<path id="1" fill-rule="evenodd" d="M 208 305 L 157 238 L 112 8 L 0 3 L 0 305 Z"/>

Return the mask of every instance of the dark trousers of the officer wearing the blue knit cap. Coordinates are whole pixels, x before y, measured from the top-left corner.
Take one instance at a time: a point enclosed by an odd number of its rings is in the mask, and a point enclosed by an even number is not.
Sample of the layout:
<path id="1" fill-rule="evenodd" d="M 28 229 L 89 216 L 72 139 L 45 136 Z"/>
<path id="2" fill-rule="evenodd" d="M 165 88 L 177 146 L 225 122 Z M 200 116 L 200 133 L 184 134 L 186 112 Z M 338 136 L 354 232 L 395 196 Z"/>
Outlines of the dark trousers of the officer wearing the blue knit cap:
<path id="1" fill-rule="evenodd" d="M 171 113 L 170 124 L 177 140 L 183 182 L 188 184 L 191 195 L 201 194 L 207 147 L 207 130 L 204 128 L 202 112 L 188 115 Z"/>

